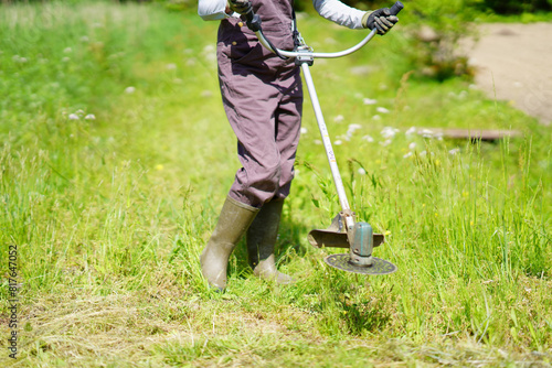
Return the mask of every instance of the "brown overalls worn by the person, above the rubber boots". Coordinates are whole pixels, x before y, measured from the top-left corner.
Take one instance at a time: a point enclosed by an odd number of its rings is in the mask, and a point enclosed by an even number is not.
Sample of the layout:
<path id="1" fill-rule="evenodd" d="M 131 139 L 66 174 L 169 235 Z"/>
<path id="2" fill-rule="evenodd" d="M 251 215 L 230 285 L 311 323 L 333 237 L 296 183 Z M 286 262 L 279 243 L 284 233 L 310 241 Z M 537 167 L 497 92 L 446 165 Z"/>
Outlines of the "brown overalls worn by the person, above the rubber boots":
<path id="1" fill-rule="evenodd" d="M 264 34 L 282 50 L 294 47 L 291 1 L 253 0 Z M 224 110 L 243 165 L 229 195 L 254 207 L 284 199 L 294 178 L 299 141 L 300 68 L 267 51 L 236 19 L 221 21 L 217 58 Z"/>

